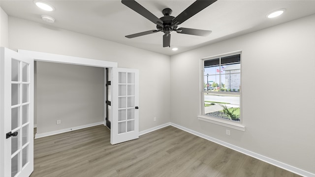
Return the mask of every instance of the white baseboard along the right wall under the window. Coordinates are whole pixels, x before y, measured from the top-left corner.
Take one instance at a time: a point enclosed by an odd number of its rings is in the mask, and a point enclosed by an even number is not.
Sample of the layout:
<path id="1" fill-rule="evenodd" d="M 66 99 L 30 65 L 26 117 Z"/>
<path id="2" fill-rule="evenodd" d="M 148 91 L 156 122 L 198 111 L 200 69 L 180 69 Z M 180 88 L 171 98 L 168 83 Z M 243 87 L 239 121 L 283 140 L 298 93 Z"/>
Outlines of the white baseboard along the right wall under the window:
<path id="1" fill-rule="evenodd" d="M 279 161 L 277 161 L 277 160 L 274 160 L 274 159 L 271 159 L 271 158 L 269 158 L 269 157 L 266 157 L 266 156 L 257 154 L 257 153 L 255 153 L 255 152 L 250 151 L 250 150 L 246 150 L 246 149 L 244 149 L 244 148 L 240 148 L 240 147 L 231 145 L 231 144 L 226 143 L 226 142 L 223 142 L 223 141 L 221 141 L 221 140 L 212 138 L 212 137 L 210 137 L 210 136 L 207 136 L 207 135 L 201 134 L 201 133 L 199 133 L 199 132 L 196 132 L 196 131 L 190 130 L 190 129 L 188 129 L 188 128 L 185 128 L 185 127 L 183 127 L 183 126 L 177 125 L 177 124 L 175 124 L 175 123 L 170 123 L 170 125 L 172 125 L 172 126 L 174 126 L 174 127 L 176 127 L 176 128 L 179 128 L 179 129 L 181 129 L 181 130 L 184 130 L 184 131 L 186 131 L 186 132 L 188 132 L 188 133 L 191 133 L 191 134 L 193 134 L 193 135 L 196 135 L 196 136 L 198 136 L 198 137 L 201 137 L 201 138 L 204 138 L 204 139 L 206 139 L 206 140 L 209 140 L 209 141 L 212 141 L 212 142 L 214 142 L 214 143 L 217 143 L 217 144 L 219 144 L 219 145 L 222 145 L 222 146 L 224 146 L 224 147 L 226 147 L 226 148 L 230 148 L 230 149 L 236 150 L 236 151 L 238 151 L 238 152 L 244 153 L 244 154 L 246 154 L 246 155 L 249 155 L 249 156 L 251 156 L 251 157 L 254 157 L 254 158 L 256 158 L 256 159 L 259 159 L 259 160 L 261 160 L 261 161 L 264 161 L 264 162 L 266 162 L 266 163 L 272 164 L 272 165 L 274 165 L 274 166 L 277 166 L 277 167 L 282 168 L 282 169 L 284 169 L 284 170 L 287 170 L 287 171 L 289 171 L 289 172 L 298 174 L 298 175 L 300 175 L 300 176 L 303 176 L 303 177 L 315 177 L 315 174 L 313 174 L 313 173 L 310 173 L 310 172 L 307 172 L 307 171 L 298 169 L 298 168 L 296 168 L 296 167 L 287 165 L 287 164 L 285 164 L 285 163 L 283 163 L 283 162 L 279 162 Z"/>

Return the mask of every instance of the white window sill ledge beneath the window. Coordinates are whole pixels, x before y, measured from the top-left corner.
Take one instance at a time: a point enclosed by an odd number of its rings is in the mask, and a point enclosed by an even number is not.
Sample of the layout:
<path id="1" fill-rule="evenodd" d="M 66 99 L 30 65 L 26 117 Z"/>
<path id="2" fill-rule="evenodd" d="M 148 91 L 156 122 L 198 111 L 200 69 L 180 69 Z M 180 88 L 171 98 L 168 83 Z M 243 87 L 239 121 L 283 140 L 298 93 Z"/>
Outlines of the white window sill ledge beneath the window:
<path id="1" fill-rule="evenodd" d="M 199 115 L 197 117 L 198 117 L 198 120 L 214 123 L 217 125 L 233 128 L 240 131 L 245 131 L 245 126 L 242 124 L 238 124 L 238 123 L 234 123 L 234 122 L 226 121 L 226 120 L 221 120 L 219 118 L 211 118 L 208 116 L 202 116 L 202 115 Z"/>

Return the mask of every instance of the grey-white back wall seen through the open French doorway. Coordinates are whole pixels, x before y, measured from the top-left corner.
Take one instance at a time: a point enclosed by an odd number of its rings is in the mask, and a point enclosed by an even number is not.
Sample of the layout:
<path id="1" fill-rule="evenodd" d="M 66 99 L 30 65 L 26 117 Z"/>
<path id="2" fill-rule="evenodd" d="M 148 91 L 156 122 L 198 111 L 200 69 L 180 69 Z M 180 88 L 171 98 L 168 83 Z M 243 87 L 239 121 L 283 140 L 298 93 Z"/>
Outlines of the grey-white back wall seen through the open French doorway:
<path id="1" fill-rule="evenodd" d="M 104 121 L 104 68 L 37 61 L 36 71 L 38 134 Z"/>

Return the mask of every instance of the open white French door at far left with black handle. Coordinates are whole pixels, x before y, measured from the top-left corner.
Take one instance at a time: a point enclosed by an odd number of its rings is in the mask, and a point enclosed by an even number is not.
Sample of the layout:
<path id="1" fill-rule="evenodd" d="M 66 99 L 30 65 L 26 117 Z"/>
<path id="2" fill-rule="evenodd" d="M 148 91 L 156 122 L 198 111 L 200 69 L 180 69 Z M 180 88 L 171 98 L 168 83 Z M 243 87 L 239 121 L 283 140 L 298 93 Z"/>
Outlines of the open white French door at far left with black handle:
<path id="1" fill-rule="evenodd" d="M 33 171 L 33 59 L 0 48 L 0 177 Z"/>

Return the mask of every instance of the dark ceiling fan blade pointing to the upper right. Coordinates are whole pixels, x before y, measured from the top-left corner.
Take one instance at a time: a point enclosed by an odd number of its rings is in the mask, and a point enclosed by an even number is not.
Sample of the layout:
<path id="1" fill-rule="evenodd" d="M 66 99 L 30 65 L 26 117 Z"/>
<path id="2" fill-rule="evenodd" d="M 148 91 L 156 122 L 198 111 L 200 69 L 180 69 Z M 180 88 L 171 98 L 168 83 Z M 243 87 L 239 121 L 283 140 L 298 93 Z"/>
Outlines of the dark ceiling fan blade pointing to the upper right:
<path id="1" fill-rule="evenodd" d="M 194 16 L 196 13 L 200 12 L 204 8 L 208 7 L 217 0 L 196 0 L 193 2 L 187 9 L 180 13 L 177 17 L 174 18 L 173 22 L 179 22 L 177 25 L 188 20 L 190 17 Z"/>

